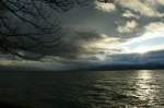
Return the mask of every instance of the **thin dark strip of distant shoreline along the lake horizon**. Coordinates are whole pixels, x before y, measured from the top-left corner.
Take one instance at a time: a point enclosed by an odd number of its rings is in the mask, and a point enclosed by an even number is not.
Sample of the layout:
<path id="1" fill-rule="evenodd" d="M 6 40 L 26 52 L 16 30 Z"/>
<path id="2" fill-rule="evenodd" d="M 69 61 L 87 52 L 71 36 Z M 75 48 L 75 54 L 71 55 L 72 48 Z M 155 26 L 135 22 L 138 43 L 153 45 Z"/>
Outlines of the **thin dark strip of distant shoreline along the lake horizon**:
<path id="1" fill-rule="evenodd" d="M 48 70 L 39 68 L 26 68 L 26 67 L 4 67 L 0 65 L 0 71 L 48 71 L 48 72 L 75 72 L 75 71 L 130 71 L 130 70 L 164 70 L 164 67 L 151 68 L 151 67 L 97 67 L 93 69 L 72 69 L 72 70 Z"/>

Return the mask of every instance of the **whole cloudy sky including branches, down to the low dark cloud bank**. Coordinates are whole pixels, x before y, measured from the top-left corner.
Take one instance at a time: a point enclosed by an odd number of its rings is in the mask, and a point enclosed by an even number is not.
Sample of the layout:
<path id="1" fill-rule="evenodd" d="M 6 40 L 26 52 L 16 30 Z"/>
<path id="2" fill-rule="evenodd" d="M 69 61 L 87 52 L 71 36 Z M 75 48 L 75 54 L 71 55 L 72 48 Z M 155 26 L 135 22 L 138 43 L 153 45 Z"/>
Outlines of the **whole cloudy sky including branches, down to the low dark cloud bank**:
<path id="1" fill-rule="evenodd" d="M 0 0 L 0 52 L 105 62 L 163 50 L 163 0 Z"/>

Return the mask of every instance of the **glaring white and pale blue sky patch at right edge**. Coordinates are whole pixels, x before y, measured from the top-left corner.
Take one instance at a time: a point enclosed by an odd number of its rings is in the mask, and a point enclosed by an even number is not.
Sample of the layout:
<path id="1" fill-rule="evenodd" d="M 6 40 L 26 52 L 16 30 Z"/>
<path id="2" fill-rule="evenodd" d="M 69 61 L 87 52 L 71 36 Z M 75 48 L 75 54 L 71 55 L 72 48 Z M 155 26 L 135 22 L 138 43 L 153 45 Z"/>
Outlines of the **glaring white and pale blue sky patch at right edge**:
<path id="1" fill-rule="evenodd" d="M 164 29 L 156 29 L 156 32 L 145 33 L 141 37 L 129 39 L 122 44 L 122 52 L 148 52 L 154 50 L 164 50 Z"/>

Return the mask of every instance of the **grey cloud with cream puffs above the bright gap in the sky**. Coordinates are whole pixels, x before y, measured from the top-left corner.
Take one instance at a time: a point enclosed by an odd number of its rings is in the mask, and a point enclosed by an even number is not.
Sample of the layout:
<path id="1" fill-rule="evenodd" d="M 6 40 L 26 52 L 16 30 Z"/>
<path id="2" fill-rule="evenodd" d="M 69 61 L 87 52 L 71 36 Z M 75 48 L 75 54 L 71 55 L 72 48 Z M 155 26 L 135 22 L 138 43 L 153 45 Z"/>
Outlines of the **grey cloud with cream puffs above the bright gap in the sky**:
<path id="1" fill-rule="evenodd" d="M 63 25 L 78 31 L 90 29 L 124 38 L 127 35 L 132 37 L 137 32 L 142 32 L 149 23 L 163 22 L 164 17 L 161 0 L 116 0 L 115 4 L 99 3 L 98 7 L 96 2 L 90 8 L 77 9 L 67 13 L 63 16 Z"/>

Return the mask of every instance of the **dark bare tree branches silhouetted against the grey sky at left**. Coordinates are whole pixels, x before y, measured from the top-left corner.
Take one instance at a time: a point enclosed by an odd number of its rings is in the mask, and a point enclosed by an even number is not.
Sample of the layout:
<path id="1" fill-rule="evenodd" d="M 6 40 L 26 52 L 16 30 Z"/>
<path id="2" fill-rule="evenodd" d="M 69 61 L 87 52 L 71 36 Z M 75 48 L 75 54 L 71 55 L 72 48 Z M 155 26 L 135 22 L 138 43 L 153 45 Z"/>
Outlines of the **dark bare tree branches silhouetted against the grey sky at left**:
<path id="1" fill-rule="evenodd" d="M 67 12 L 93 0 L 0 0 L 0 50 L 24 59 L 55 55 L 65 35 L 54 10 Z"/>

